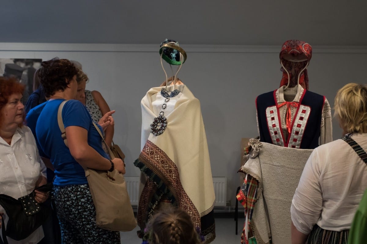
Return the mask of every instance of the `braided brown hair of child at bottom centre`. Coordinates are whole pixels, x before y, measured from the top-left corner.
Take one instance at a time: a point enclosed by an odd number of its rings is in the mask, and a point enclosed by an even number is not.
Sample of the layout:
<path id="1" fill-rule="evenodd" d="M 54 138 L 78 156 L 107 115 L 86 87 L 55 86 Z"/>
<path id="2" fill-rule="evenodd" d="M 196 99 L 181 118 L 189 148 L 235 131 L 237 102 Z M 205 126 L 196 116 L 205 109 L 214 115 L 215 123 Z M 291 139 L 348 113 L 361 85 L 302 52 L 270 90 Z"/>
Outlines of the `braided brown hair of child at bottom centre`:
<path id="1" fill-rule="evenodd" d="M 179 208 L 158 212 L 147 224 L 143 243 L 202 244 L 190 215 Z"/>

